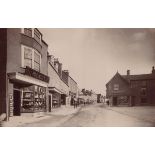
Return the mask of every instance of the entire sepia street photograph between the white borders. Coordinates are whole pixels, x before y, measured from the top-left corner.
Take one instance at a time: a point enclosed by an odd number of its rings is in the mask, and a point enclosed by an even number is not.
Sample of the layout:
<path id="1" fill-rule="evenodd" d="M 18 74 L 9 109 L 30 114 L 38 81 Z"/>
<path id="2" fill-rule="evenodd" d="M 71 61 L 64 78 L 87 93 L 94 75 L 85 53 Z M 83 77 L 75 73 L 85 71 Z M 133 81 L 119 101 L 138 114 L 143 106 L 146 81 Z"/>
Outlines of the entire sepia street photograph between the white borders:
<path id="1" fill-rule="evenodd" d="M 0 28 L 1 127 L 155 127 L 154 28 Z"/>

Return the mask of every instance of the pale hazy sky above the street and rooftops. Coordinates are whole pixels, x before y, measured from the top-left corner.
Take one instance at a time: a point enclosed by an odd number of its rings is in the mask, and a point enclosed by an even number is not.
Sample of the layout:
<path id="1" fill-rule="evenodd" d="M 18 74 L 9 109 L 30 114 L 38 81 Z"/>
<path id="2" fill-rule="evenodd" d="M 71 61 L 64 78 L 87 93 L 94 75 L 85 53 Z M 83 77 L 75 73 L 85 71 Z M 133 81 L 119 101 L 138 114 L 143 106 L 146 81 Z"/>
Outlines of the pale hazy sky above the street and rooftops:
<path id="1" fill-rule="evenodd" d="M 105 95 L 118 71 L 151 73 L 155 66 L 155 29 L 40 29 L 49 53 L 58 58 L 79 88 Z"/>

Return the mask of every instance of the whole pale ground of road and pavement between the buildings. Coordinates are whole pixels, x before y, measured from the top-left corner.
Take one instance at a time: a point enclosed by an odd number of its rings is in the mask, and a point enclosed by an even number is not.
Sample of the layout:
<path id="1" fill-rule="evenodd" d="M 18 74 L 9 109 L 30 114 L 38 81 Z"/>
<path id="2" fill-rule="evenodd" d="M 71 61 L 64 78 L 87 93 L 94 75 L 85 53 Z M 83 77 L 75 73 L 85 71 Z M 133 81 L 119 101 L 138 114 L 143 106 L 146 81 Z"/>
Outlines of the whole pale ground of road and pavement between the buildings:
<path id="1" fill-rule="evenodd" d="M 62 106 L 44 116 L 19 116 L 7 123 L 6 126 L 20 127 L 155 127 L 155 106 Z"/>

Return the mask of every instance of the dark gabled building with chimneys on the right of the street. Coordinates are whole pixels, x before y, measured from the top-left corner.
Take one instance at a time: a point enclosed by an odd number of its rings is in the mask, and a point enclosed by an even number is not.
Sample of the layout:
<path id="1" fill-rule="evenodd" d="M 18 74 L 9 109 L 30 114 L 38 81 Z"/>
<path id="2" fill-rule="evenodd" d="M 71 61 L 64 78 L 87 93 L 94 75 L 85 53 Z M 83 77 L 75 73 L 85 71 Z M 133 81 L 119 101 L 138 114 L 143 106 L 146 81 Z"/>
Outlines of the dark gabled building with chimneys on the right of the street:
<path id="1" fill-rule="evenodd" d="M 151 74 L 120 75 L 118 72 L 106 84 L 106 97 L 112 106 L 155 105 L 155 69 Z"/>

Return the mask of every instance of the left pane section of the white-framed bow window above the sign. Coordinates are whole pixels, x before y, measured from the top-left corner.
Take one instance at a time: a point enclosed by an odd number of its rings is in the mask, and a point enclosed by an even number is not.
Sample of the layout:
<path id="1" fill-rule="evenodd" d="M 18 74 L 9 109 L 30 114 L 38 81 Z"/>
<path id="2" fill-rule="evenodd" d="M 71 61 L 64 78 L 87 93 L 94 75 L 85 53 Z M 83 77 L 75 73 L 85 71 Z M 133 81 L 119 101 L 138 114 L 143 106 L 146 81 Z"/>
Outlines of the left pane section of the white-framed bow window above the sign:
<path id="1" fill-rule="evenodd" d="M 24 47 L 24 67 L 32 68 L 32 49 Z"/>

